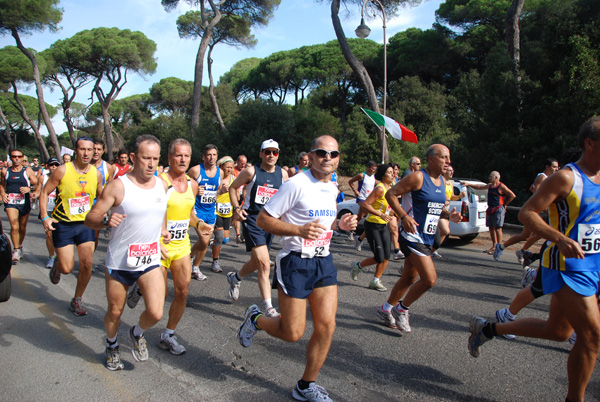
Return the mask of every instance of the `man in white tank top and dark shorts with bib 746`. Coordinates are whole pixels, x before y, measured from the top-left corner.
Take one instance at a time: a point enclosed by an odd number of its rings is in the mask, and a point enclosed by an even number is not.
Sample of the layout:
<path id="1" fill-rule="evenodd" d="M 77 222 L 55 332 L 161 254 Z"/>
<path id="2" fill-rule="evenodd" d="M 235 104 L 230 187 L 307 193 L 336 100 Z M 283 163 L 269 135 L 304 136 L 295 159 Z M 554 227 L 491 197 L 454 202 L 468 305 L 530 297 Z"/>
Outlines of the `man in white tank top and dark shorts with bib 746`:
<path id="1" fill-rule="evenodd" d="M 148 360 L 144 331 L 163 314 L 165 280 L 160 269 L 160 238 L 168 243 L 171 235 L 164 227 L 167 211 L 167 184 L 154 176 L 160 158 L 160 142 L 152 135 L 136 139 L 130 155 L 133 169 L 107 184 L 102 196 L 85 219 L 92 229 L 112 228 L 106 253 L 106 368 L 122 370 L 117 332 L 125 307 L 127 290 L 136 281 L 146 309 L 138 324 L 129 331 L 136 361 Z M 112 209 L 112 214 L 108 214 Z"/>

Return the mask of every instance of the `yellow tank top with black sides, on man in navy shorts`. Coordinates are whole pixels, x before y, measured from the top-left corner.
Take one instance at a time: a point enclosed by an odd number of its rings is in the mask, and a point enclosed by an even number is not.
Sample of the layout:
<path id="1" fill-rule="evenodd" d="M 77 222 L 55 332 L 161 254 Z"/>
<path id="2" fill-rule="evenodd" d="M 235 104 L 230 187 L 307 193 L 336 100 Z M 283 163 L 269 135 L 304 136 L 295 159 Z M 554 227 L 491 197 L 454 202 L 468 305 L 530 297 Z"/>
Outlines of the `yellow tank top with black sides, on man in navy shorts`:
<path id="1" fill-rule="evenodd" d="M 65 167 L 65 175 L 58 183 L 52 217 L 59 222 L 83 222 L 96 199 L 98 173 L 92 165 L 85 174 L 78 173 L 73 162 Z"/>

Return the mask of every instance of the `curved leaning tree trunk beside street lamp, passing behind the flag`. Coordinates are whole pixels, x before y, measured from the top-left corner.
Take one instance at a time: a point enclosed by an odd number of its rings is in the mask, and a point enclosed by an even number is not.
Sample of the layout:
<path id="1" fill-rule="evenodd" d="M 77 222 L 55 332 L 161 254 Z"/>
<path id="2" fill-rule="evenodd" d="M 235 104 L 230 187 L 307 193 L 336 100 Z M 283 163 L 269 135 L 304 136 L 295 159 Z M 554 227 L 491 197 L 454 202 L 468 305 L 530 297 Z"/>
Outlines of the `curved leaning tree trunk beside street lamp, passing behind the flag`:
<path id="1" fill-rule="evenodd" d="M 333 22 L 333 29 L 335 30 L 335 35 L 337 36 L 338 43 L 340 44 L 342 54 L 348 62 L 348 65 L 350 65 L 352 71 L 354 71 L 354 73 L 358 77 L 358 81 L 360 82 L 361 86 L 365 90 L 369 102 L 369 109 L 373 110 L 374 112 L 380 113 L 379 104 L 377 102 L 377 93 L 375 92 L 373 81 L 371 81 L 371 77 L 369 76 L 369 73 L 367 72 L 365 66 L 360 60 L 356 58 L 356 56 L 354 56 L 352 50 L 350 49 L 350 45 L 348 45 L 348 41 L 346 40 L 346 34 L 344 33 L 344 29 L 342 28 L 340 17 L 338 16 L 339 11 L 340 0 L 332 0 L 331 21 Z M 389 160 L 389 154 L 387 149 L 387 143 L 385 140 L 385 130 L 377 130 L 377 140 L 379 142 L 379 148 L 381 149 L 381 159 L 382 161 L 387 162 Z"/>

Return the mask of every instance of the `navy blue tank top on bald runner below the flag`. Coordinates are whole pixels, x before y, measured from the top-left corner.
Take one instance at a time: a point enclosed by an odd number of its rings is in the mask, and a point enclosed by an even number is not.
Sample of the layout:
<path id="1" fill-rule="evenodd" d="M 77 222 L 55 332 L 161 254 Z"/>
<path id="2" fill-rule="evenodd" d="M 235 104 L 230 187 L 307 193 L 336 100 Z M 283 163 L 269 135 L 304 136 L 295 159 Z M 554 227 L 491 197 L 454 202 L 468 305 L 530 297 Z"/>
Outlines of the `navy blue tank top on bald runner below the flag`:
<path id="1" fill-rule="evenodd" d="M 446 189 L 442 177 L 440 177 L 440 185 L 436 186 L 431 181 L 425 169 L 421 169 L 420 172 L 423 175 L 423 185 L 421 188 L 410 192 L 410 200 L 404 200 L 404 197 L 402 197 L 403 209 L 419 224 L 417 226 L 418 237 L 415 237 L 412 233 L 405 232 L 402 226 L 400 226 L 402 228 L 401 234 L 410 241 L 422 242 L 431 246 L 435 240 L 435 232 L 437 231 L 440 214 L 446 203 Z M 410 203 L 411 201 L 412 207 L 408 210 L 404 208 L 405 203 Z"/>

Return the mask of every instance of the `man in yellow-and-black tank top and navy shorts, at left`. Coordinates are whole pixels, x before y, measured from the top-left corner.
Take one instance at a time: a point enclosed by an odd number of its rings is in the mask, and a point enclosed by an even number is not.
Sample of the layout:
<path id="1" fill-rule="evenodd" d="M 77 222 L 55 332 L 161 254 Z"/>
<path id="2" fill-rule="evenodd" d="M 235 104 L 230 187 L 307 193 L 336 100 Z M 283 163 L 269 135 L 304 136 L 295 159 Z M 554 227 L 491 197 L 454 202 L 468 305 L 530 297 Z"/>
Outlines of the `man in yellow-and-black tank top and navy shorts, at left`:
<path id="1" fill-rule="evenodd" d="M 40 217 L 46 232 L 52 232 L 57 262 L 50 269 L 53 284 L 61 274 L 70 274 L 75 268 L 75 246 L 79 256 L 79 273 L 71 311 L 77 316 L 86 315 L 83 293 L 92 276 L 94 231 L 86 228 L 84 220 L 96 197 L 102 192 L 102 176 L 90 162 L 94 152 L 91 138 L 80 137 L 75 143 L 75 160 L 59 166 L 42 189 Z M 48 215 L 50 194 L 57 190 L 54 210 Z"/>

